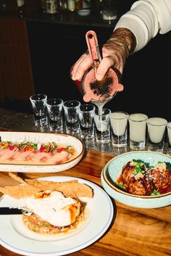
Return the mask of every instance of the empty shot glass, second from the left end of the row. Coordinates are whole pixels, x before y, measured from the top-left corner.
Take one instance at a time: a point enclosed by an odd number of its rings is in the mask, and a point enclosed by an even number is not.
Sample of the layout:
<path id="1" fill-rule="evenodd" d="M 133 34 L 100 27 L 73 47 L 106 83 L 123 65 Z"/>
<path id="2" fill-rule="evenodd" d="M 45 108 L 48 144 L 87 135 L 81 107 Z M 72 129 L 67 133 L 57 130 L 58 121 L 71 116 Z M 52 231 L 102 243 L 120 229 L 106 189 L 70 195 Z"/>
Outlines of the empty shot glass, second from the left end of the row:
<path id="1" fill-rule="evenodd" d="M 48 99 L 46 107 L 49 116 L 49 131 L 54 133 L 63 133 L 63 100 Z"/>

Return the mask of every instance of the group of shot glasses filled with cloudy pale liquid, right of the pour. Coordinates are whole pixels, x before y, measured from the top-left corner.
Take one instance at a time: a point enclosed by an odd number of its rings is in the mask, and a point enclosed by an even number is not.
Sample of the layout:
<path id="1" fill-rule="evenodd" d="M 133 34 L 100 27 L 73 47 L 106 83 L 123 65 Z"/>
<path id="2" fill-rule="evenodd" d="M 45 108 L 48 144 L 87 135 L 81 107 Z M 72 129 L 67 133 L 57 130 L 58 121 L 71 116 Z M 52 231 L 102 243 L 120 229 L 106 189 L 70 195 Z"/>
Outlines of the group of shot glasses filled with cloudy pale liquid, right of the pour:
<path id="1" fill-rule="evenodd" d="M 112 142 L 128 144 L 129 150 L 148 150 L 171 154 L 171 122 L 143 113 L 112 112 Z"/>

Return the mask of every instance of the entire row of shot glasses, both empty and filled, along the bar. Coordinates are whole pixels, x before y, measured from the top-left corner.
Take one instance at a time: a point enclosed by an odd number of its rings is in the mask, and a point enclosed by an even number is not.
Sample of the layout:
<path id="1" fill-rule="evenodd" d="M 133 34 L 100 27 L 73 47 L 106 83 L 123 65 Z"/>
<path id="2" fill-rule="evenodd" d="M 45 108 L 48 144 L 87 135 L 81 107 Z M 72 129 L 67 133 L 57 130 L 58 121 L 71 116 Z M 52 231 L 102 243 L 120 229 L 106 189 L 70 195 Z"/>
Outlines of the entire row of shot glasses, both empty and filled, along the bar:
<path id="1" fill-rule="evenodd" d="M 81 104 L 75 99 L 65 102 L 47 99 L 45 94 L 30 96 L 30 102 L 35 125 L 49 125 L 51 132 L 74 134 L 82 139 L 95 138 L 101 143 L 112 141 L 114 147 L 128 146 L 130 150 L 166 150 L 171 154 L 171 122 L 162 117 L 149 118 L 143 113 L 129 115 L 105 107 L 99 113 L 93 104 Z"/>

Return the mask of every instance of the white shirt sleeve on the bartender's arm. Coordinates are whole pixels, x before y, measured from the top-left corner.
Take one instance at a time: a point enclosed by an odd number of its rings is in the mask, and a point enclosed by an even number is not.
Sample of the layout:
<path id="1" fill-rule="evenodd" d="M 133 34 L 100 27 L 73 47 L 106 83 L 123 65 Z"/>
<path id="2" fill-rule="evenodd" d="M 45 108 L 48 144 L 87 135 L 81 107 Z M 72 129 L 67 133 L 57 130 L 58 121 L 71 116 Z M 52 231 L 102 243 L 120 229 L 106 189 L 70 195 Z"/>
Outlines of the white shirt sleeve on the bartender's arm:
<path id="1" fill-rule="evenodd" d="M 130 11 L 120 17 L 114 30 L 128 28 L 133 32 L 137 45 L 135 51 L 142 49 L 157 33 L 171 30 L 171 0 L 139 0 Z"/>

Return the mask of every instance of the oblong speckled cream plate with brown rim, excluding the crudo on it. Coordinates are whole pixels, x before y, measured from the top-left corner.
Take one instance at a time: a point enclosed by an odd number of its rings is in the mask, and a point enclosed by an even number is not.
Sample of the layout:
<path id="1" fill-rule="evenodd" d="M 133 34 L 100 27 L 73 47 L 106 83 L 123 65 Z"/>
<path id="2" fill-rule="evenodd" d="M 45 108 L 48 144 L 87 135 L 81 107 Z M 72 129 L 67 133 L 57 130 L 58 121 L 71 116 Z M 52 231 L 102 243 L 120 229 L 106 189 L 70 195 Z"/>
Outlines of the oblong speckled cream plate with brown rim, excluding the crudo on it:
<path id="1" fill-rule="evenodd" d="M 57 133 L 35 133 L 35 132 L 16 132 L 16 131 L 1 131 L 1 141 L 12 141 L 22 143 L 22 141 L 32 141 L 37 143 L 55 142 L 59 145 L 74 146 L 75 154 L 67 162 L 57 165 L 22 165 L 22 164 L 3 164 L 0 163 L 1 171 L 25 172 L 32 173 L 56 173 L 63 170 L 68 170 L 80 162 L 84 154 L 83 142 L 75 136 Z"/>

